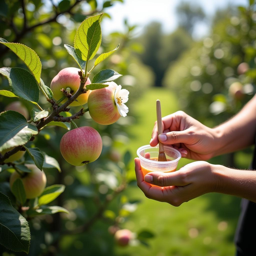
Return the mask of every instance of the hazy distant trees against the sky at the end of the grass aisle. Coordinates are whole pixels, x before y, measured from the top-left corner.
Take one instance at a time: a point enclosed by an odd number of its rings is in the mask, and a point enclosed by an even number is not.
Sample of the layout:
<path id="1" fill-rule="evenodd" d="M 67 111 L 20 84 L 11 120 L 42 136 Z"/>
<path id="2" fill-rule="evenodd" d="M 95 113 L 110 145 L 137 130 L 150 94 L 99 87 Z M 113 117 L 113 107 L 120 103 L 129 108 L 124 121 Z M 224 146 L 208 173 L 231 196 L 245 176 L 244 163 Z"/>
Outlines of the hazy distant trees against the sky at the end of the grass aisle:
<path id="1" fill-rule="evenodd" d="M 171 34 L 165 34 L 162 24 L 152 22 L 136 40 L 144 49 L 139 54 L 143 63 L 155 73 L 154 86 L 162 86 L 164 74 L 184 51 L 193 44 L 193 31 L 199 22 L 205 20 L 202 8 L 193 3 L 180 2 L 176 8 L 178 28 Z"/>

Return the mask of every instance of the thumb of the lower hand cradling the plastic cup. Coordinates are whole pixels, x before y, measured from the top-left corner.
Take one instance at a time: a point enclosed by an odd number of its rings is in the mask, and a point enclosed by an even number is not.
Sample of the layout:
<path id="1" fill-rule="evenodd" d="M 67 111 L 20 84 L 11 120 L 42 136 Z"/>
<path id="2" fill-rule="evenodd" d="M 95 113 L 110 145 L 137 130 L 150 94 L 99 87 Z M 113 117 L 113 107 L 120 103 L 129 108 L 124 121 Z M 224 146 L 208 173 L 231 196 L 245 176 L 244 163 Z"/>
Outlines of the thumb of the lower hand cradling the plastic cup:
<path id="1" fill-rule="evenodd" d="M 186 186 L 190 184 L 188 172 L 179 170 L 171 173 L 151 172 L 145 175 L 144 180 L 160 187 Z"/>

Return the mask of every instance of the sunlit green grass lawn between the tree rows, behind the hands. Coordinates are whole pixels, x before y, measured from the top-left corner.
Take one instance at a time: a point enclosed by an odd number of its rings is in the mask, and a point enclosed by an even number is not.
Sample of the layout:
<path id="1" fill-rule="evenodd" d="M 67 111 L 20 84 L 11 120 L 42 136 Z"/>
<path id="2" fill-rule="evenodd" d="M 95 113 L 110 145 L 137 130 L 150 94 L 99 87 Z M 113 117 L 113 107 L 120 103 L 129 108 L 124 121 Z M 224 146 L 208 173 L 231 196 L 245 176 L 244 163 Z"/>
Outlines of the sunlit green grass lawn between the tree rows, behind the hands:
<path id="1" fill-rule="evenodd" d="M 162 116 L 179 110 L 176 96 L 163 88 L 148 90 L 130 106 L 138 117 L 137 123 L 127 129 L 130 142 L 126 149 L 132 152 L 133 157 L 136 157 L 137 148 L 148 144 L 151 139 L 156 120 L 156 99 L 161 100 Z M 188 159 L 181 159 L 178 168 L 189 162 Z M 133 169 L 134 164 L 131 164 L 130 177 L 135 177 Z M 147 199 L 137 187 L 129 187 L 126 193 L 129 198 L 140 199 L 141 204 L 125 222 L 124 227 L 134 232 L 151 230 L 156 237 L 149 240 L 149 248 L 142 245 L 116 247 L 116 255 L 234 255 L 233 236 L 240 199 L 214 193 L 174 207 Z"/>

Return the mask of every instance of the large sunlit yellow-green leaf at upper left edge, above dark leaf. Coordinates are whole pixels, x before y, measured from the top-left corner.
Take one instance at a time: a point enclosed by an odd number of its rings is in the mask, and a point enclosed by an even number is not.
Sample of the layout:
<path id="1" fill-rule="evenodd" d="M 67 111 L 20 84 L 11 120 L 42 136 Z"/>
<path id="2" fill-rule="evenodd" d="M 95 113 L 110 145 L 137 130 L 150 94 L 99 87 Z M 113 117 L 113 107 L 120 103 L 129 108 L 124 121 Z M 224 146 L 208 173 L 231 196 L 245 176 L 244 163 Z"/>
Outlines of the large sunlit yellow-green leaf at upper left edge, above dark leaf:
<path id="1" fill-rule="evenodd" d="M 42 64 L 34 50 L 19 43 L 9 43 L 0 38 L 0 43 L 11 49 L 24 63 L 30 72 L 34 75 L 36 81 L 40 83 Z"/>

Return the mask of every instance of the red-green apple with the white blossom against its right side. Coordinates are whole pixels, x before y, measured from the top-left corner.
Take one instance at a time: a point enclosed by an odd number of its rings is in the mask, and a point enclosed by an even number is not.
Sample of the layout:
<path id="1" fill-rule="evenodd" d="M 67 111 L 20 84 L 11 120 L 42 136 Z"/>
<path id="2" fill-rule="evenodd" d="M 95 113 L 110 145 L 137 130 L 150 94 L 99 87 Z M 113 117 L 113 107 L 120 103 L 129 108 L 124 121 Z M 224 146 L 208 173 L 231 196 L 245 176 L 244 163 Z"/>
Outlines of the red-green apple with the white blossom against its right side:
<path id="1" fill-rule="evenodd" d="M 91 118 L 99 124 L 113 124 L 121 115 L 114 100 L 115 88 L 108 87 L 93 90 L 88 97 L 88 108 Z"/>

